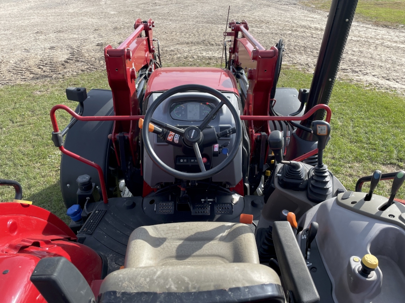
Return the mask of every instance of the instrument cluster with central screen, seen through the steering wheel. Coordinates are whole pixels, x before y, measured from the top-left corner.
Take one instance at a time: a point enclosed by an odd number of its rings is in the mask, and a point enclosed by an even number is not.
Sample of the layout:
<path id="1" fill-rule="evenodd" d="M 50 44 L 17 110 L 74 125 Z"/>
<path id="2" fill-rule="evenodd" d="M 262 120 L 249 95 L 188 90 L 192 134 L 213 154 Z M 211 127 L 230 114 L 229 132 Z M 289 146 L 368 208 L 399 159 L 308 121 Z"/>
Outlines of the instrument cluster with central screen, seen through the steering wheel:
<path id="1" fill-rule="evenodd" d="M 170 116 L 175 120 L 203 121 L 214 108 L 215 105 L 209 102 L 176 102 L 170 107 Z"/>

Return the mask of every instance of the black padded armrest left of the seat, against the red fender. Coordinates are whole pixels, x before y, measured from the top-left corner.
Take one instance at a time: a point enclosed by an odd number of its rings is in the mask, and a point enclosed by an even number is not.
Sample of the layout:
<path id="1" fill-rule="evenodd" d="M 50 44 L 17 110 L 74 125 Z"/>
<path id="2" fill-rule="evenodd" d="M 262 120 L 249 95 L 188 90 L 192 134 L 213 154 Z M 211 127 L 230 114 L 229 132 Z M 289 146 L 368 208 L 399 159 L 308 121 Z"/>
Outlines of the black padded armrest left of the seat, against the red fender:
<path id="1" fill-rule="evenodd" d="M 41 259 L 30 280 L 48 303 L 89 303 L 95 300 L 85 277 L 64 257 Z"/>

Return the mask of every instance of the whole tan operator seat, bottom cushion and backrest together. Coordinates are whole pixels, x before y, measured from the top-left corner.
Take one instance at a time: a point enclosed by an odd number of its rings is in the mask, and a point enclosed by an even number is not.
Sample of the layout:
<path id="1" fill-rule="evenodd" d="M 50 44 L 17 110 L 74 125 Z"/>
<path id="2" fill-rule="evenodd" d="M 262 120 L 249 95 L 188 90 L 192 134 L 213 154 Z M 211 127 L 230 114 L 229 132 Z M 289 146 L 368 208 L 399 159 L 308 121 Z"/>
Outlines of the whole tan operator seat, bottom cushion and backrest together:
<path id="1" fill-rule="evenodd" d="M 115 296 L 134 302 L 285 302 L 278 275 L 259 264 L 252 229 L 222 222 L 137 228 L 124 269 L 104 279 L 100 294 L 99 302 Z"/>

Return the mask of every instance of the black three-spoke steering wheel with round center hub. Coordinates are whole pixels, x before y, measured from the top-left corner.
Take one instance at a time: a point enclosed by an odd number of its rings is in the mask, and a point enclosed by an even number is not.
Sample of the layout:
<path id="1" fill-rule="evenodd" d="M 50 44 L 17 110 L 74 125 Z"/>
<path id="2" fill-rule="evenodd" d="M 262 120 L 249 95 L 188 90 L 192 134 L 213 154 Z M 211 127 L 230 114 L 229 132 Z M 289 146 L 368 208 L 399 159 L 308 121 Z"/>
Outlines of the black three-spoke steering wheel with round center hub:
<path id="1" fill-rule="evenodd" d="M 189 126 L 186 129 L 180 129 L 177 127 L 174 127 L 172 125 L 168 125 L 166 123 L 157 121 L 155 119 L 152 119 L 152 115 L 154 111 L 157 109 L 157 107 L 164 102 L 167 98 L 170 96 L 176 94 L 176 93 L 181 93 L 181 92 L 187 92 L 187 91 L 197 91 L 197 92 L 205 92 L 209 93 L 215 97 L 217 97 L 220 100 L 220 103 L 207 115 L 207 117 L 204 119 L 203 122 L 197 127 L 197 126 Z M 233 119 L 235 121 L 235 128 L 236 128 L 236 139 L 235 139 L 235 144 L 233 144 L 232 150 L 230 151 L 228 157 L 217 167 L 206 170 L 204 167 L 203 163 L 203 158 L 201 158 L 201 153 L 199 150 L 198 144 L 203 141 L 203 134 L 201 133 L 211 122 L 213 117 L 218 113 L 218 111 L 222 108 L 223 105 L 226 105 L 228 109 L 230 110 Z M 194 149 L 195 156 L 197 158 L 197 162 L 199 165 L 199 168 L 201 170 L 200 173 L 185 173 L 181 172 L 178 170 L 175 170 L 165 163 L 161 161 L 155 154 L 154 150 L 152 149 L 152 146 L 150 144 L 149 140 L 149 127 L 143 127 L 142 128 L 142 137 L 143 137 L 143 142 L 144 146 L 146 149 L 147 154 L 149 155 L 150 159 L 163 171 L 166 173 L 181 179 L 181 180 L 201 180 L 201 179 L 207 179 L 210 178 L 216 174 L 218 174 L 220 171 L 222 171 L 225 167 L 227 167 L 232 160 L 235 158 L 237 151 L 240 146 L 240 142 L 242 139 L 242 123 L 240 122 L 240 117 L 238 111 L 235 109 L 235 107 L 232 105 L 230 100 L 224 96 L 220 91 L 205 86 L 205 85 L 199 85 L 199 84 L 186 84 L 186 85 L 180 85 L 173 87 L 160 96 L 156 98 L 156 100 L 153 102 L 153 104 L 150 106 L 150 108 L 147 110 L 145 118 L 144 118 L 144 125 L 149 125 L 149 123 L 152 122 L 154 124 L 157 124 L 160 127 L 166 128 L 171 131 L 175 131 L 177 134 L 180 134 L 183 136 L 183 144 L 185 143 L 186 145 L 192 147 Z"/>

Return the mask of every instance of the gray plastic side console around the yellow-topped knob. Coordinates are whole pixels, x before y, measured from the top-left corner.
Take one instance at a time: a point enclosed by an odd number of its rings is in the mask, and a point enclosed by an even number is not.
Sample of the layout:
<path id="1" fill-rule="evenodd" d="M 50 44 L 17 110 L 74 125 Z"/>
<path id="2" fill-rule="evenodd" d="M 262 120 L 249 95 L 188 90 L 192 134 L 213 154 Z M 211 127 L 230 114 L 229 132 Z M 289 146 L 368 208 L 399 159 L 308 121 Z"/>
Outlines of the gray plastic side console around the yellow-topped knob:
<path id="1" fill-rule="evenodd" d="M 355 210 L 339 206 L 337 198 L 333 198 L 309 210 L 298 222 L 304 228 L 312 221 L 319 224 L 315 240 L 333 284 L 335 302 L 402 302 L 405 230 Z M 361 281 L 356 265 L 350 261 L 353 256 L 361 259 L 366 254 L 373 254 L 379 260 L 375 282 Z"/>

